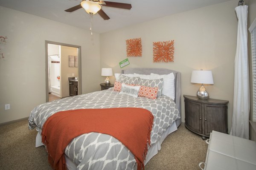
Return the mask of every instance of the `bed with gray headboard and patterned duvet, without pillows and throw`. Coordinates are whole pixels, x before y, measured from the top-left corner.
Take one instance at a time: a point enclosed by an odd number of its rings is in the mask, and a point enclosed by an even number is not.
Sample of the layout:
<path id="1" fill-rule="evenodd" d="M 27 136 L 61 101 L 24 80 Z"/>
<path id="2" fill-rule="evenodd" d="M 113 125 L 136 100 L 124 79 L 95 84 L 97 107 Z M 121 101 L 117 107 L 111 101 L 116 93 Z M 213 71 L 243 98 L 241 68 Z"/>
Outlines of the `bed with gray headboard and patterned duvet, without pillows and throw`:
<path id="1" fill-rule="evenodd" d="M 174 75 L 175 98 L 158 96 L 157 99 L 146 97 L 132 97 L 109 88 L 89 94 L 68 97 L 36 106 L 29 116 L 29 129 L 38 131 L 36 147 L 41 143 L 41 132 L 44 123 L 55 113 L 60 111 L 83 108 L 145 108 L 154 115 L 154 124 L 151 131 L 151 145 L 144 164 L 161 149 L 163 140 L 181 123 L 181 84 L 180 72 L 164 68 L 129 68 L 122 70 L 123 75 Z M 140 78 L 140 79 L 143 79 Z M 99 154 L 100 153 L 100 154 Z M 69 170 L 136 170 L 137 162 L 133 153 L 121 142 L 112 136 L 102 133 L 86 133 L 74 138 L 65 149 L 65 159 Z"/>

